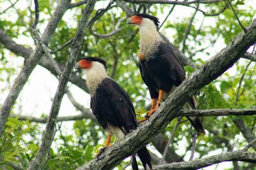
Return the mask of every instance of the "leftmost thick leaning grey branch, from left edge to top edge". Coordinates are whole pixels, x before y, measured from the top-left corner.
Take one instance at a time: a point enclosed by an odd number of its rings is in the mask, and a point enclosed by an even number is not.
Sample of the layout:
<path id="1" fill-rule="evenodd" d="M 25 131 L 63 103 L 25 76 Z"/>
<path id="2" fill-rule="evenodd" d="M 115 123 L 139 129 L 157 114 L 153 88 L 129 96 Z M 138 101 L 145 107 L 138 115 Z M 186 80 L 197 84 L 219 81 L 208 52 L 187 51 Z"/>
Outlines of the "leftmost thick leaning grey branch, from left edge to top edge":
<path id="1" fill-rule="evenodd" d="M 65 11 L 67 11 L 68 4 L 70 0 L 60 1 L 58 6 L 56 6 L 56 10 L 52 13 L 51 20 L 47 24 L 47 27 L 42 34 L 42 41 L 47 45 L 51 39 L 52 34 L 54 33 L 58 23 L 63 17 Z M 31 53 L 28 60 L 26 60 L 24 67 L 22 67 L 19 76 L 16 78 L 15 82 L 10 89 L 8 96 L 6 97 L 4 104 L 0 111 L 0 138 L 4 131 L 4 125 L 6 124 L 7 118 L 10 115 L 10 111 L 20 94 L 20 91 L 24 87 L 26 81 L 28 81 L 28 77 L 35 68 L 36 64 L 38 64 L 39 60 L 42 58 L 42 49 L 40 45 L 37 45 L 33 53 Z"/>

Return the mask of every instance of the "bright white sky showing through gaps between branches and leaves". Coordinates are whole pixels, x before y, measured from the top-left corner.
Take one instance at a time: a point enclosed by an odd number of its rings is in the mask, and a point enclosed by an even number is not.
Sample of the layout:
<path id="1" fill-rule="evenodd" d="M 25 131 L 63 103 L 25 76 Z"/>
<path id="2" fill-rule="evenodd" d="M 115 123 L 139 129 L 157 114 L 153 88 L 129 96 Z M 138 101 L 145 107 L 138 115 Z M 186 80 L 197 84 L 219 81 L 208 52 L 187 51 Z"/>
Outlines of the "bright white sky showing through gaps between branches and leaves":
<path id="1" fill-rule="evenodd" d="M 25 4 L 26 3 L 24 3 L 24 1 L 20 0 L 15 6 L 19 6 L 19 8 L 22 8 L 22 6 L 24 6 L 24 8 L 26 8 Z M 107 4 L 108 4 L 108 1 L 100 1 L 97 3 L 97 8 L 102 8 L 102 5 L 106 6 Z M 255 1 L 247 0 L 246 4 L 248 4 L 248 6 L 253 6 L 253 4 L 254 4 L 254 6 L 255 6 Z M 0 11 L 3 11 L 3 9 L 5 9 L 6 6 L 9 6 L 9 5 L 10 5 L 9 3 L 4 1 L 4 3 L 2 3 L 0 5 Z M 167 14 L 169 10 L 170 9 L 165 8 L 164 13 Z M 254 10 L 256 10 L 256 7 Z M 180 11 L 182 11 L 182 13 L 180 13 Z M 171 17 L 169 17 L 168 20 L 170 20 L 170 22 L 172 22 L 172 20 L 173 21 L 180 20 L 182 17 L 191 17 L 191 14 L 194 11 L 195 10 L 193 8 L 188 8 L 188 7 L 184 7 L 184 6 L 176 6 L 175 10 L 173 10 Z M 202 18 L 202 14 L 200 12 L 198 12 L 197 15 L 199 16 L 199 17 L 197 16 L 198 18 Z M 157 17 L 159 17 L 160 21 L 162 22 L 164 20 L 165 16 L 166 15 L 159 15 Z M 10 20 L 12 20 L 13 19 L 12 17 L 15 18 L 17 16 L 15 16 L 15 15 L 12 15 L 12 16 L 0 15 L 0 17 L 8 17 L 8 18 L 10 18 Z M 44 17 L 44 16 L 40 16 L 40 17 Z M 48 16 L 46 16 L 46 18 L 47 17 Z M 76 25 L 76 22 L 74 22 L 74 23 L 70 22 L 70 18 L 72 18 L 72 12 L 70 12 L 70 11 L 67 12 L 65 14 L 65 17 L 63 17 L 63 18 L 65 18 L 65 20 L 69 21 L 68 24 Z M 195 25 L 198 27 L 198 25 L 200 25 L 200 22 L 201 21 L 199 19 L 197 22 L 195 22 Z M 206 17 L 204 20 L 204 25 L 212 25 L 212 24 L 214 24 L 214 17 Z M 42 25 L 42 27 L 40 27 L 41 32 L 44 31 L 45 26 L 46 26 L 46 24 Z M 170 38 L 171 42 L 173 41 L 172 36 L 173 36 L 173 34 L 175 34 L 175 32 L 172 32 L 172 30 L 164 30 L 164 34 Z M 17 40 L 17 43 L 20 43 L 23 45 L 26 45 L 26 44 L 33 45 L 32 39 L 25 38 L 24 36 L 22 36 L 19 39 L 15 39 L 15 40 Z M 223 43 L 223 40 L 220 39 L 214 47 L 207 49 L 207 52 L 215 54 L 215 53 L 219 52 L 221 50 L 221 48 L 223 48 L 223 47 L 225 47 L 225 44 Z M 7 50 L 6 50 L 6 53 L 8 53 L 10 62 L 5 67 L 14 67 L 15 69 L 17 67 L 19 67 L 19 69 L 20 69 L 20 67 L 23 64 L 23 59 L 21 57 L 19 57 L 19 58 L 15 57 L 15 55 L 8 52 Z M 200 55 L 200 57 L 203 57 L 204 53 L 200 53 L 199 55 Z M 1 54 L 0 54 L 0 56 L 1 56 Z M 213 56 L 213 55 L 211 55 L 211 56 Z M 207 59 L 204 58 L 204 60 L 207 60 Z M 0 62 L 0 68 L 1 67 L 3 67 L 3 64 L 1 64 L 1 62 Z M 235 71 L 236 71 L 236 68 L 233 67 L 232 69 L 229 70 L 229 73 L 234 74 Z M 1 75 L 2 78 L 5 76 L 6 75 Z M 16 76 L 12 77 L 12 81 L 15 79 Z M 70 86 L 70 83 L 68 83 L 68 85 Z M 58 86 L 58 80 L 56 80 L 56 78 L 54 76 L 52 76 L 52 74 L 49 73 L 49 71 L 47 71 L 43 67 L 36 66 L 33 73 L 29 77 L 28 83 L 26 83 L 26 85 L 24 86 L 24 89 L 20 93 L 19 98 L 17 99 L 17 105 L 22 106 L 22 114 L 31 115 L 33 117 L 41 117 L 42 113 L 44 113 L 45 115 L 48 115 L 49 111 L 51 109 L 51 99 L 54 97 L 57 86 Z M 0 90 L 4 89 L 4 87 L 6 87 L 6 83 L 3 83 L 0 81 Z M 83 90 L 77 88 L 75 85 L 72 85 L 70 87 L 70 90 L 72 92 L 72 95 L 75 97 L 75 99 L 79 103 L 83 104 L 84 107 L 86 107 L 86 108 L 90 108 L 90 97 L 88 94 L 83 92 Z M 8 91 L 4 91 L 3 94 L 1 94 L 0 103 L 3 103 L 3 101 L 7 95 L 8 95 Z M 18 111 L 19 111 L 19 108 L 14 110 L 15 113 L 19 113 Z M 68 100 L 67 95 L 65 95 L 63 98 L 63 102 L 61 104 L 59 117 L 68 116 L 68 115 L 76 115 L 76 114 L 79 114 L 79 112 L 76 111 L 74 106 Z M 63 122 L 62 131 L 66 132 L 68 134 L 74 133 L 72 127 L 73 127 L 73 122 Z M 45 129 L 45 125 L 42 125 L 42 131 L 44 131 L 44 129 Z M 102 143 L 103 143 L 103 140 L 102 140 Z M 184 146 L 184 141 L 180 141 L 179 146 Z M 180 147 L 180 150 L 177 151 L 177 153 L 179 153 L 180 155 L 182 155 L 182 153 L 184 153 L 184 152 L 185 152 L 184 147 Z M 221 153 L 221 150 L 214 150 L 211 153 L 209 153 L 209 155 L 215 155 L 217 153 Z M 184 159 L 188 160 L 189 156 L 190 156 L 190 153 L 188 152 Z M 196 157 L 198 157 L 198 154 L 195 154 L 195 158 Z M 224 168 L 230 167 L 231 165 L 232 165 L 231 162 L 224 162 L 224 163 L 221 163 L 218 165 L 218 169 L 224 169 Z M 215 169 L 215 167 L 216 166 L 211 166 L 211 167 L 206 167 L 204 169 Z"/>

